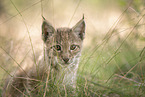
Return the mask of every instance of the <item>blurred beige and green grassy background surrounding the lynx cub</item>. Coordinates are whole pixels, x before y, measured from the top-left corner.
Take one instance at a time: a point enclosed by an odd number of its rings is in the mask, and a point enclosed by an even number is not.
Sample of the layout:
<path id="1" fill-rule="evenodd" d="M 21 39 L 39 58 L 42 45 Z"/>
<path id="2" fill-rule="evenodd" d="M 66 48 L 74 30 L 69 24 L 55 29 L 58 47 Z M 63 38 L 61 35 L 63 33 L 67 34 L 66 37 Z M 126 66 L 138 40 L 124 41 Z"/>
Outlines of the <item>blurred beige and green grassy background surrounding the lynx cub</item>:
<path id="1" fill-rule="evenodd" d="M 145 96 L 144 0 L 0 0 L 0 89 L 17 64 L 30 62 L 31 42 L 36 57 L 43 50 L 42 16 L 57 28 L 83 14 L 79 95 Z"/>

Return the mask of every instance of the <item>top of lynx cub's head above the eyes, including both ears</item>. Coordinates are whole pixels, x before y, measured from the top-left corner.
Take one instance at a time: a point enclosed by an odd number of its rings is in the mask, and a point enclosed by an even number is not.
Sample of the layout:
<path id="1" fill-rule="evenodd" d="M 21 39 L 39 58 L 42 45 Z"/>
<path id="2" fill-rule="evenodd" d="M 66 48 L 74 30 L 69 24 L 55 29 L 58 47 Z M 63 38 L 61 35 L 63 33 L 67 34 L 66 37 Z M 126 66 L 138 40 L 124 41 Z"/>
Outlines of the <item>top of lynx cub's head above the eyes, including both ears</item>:
<path id="1" fill-rule="evenodd" d="M 72 28 L 55 29 L 48 21 L 44 20 L 42 24 L 42 39 L 47 47 L 53 45 L 80 45 L 85 36 L 85 22 L 82 18 Z"/>

